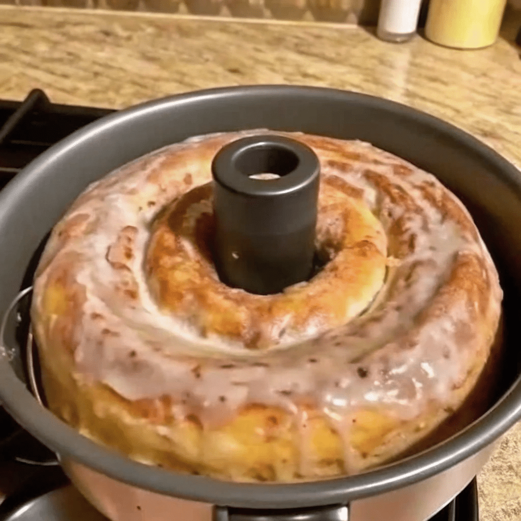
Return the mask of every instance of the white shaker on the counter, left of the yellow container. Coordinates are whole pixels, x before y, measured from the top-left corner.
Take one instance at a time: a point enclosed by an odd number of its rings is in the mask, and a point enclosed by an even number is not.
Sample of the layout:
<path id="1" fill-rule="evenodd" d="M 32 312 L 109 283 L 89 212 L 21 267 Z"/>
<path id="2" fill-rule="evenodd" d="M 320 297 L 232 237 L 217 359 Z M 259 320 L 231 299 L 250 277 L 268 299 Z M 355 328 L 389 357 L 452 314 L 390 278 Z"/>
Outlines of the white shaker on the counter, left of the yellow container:
<path id="1" fill-rule="evenodd" d="M 380 40 L 402 43 L 416 32 L 421 0 L 382 0 L 376 34 Z"/>

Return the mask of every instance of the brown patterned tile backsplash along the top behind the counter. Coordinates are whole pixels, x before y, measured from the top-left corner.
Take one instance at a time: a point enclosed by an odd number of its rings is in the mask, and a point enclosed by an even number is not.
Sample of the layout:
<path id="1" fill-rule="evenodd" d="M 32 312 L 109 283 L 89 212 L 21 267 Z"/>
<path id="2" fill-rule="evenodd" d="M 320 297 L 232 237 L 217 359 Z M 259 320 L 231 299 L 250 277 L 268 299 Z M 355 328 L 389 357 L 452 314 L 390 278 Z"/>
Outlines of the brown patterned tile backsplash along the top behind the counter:
<path id="1" fill-rule="evenodd" d="M 380 0 L 0 0 L 0 4 L 375 25 Z"/>

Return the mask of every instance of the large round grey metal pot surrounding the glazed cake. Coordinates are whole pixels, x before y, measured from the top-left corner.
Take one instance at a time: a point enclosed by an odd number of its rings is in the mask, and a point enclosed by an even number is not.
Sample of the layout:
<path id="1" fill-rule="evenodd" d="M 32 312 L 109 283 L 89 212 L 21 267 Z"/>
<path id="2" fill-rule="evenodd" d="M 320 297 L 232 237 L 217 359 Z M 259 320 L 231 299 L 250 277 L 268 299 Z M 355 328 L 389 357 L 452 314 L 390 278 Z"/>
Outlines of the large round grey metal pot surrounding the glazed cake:
<path id="1" fill-rule="evenodd" d="M 228 483 L 129 460 L 79 435 L 42 407 L 0 356 L 0 399 L 49 448 L 85 497 L 113 521 L 193 519 L 423 521 L 476 475 L 492 443 L 521 417 L 521 177 L 461 130 L 362 94 L 253 86 L 173 96 L 107 116 L 31 163 L 0 194 L 0 313 L 30 285 L 36 247 L 86 185 L 156 148 L 192 135 L 249 128 L 361 139 L 434 173 L 480 228 L 505 290 L 504 384 L 489 411 L 449 440 L 405 460 L 340 479 L 292 485 Z M 12 329 L 12 328 L 11 328 Z M 17 349 L 7 328 L 9 348 Z M 12 344 L 11 344 L 12 342 Z M 217 506 L 214 506 L 217 505 Z"/>

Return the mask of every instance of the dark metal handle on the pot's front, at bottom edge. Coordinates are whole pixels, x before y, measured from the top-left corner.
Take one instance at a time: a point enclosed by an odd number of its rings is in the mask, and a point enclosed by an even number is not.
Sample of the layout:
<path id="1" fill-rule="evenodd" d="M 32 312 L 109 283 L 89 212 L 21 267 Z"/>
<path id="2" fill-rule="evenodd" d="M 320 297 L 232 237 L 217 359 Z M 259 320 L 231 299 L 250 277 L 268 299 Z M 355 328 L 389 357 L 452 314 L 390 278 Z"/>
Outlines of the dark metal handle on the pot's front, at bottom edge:
<path id="1" fill-rule="evenodd" d="M 213 521 L 349 521 L 349 504 L 280 510 L 215 506 Z"/>

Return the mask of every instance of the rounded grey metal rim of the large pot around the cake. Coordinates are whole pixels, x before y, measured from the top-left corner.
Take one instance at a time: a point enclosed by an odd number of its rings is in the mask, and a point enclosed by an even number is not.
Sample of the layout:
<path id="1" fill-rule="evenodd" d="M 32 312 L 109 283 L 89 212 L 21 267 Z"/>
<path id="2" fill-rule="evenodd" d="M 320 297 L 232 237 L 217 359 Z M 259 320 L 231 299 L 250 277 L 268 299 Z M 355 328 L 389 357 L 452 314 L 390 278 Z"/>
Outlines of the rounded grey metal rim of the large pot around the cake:
<path id="1" fill-rule="evenodd" d="M 0 193 L 0 225 L 5 215 L 23 205 L 24 189 L 45 175 L 57 158 L 107 129 L 120 128 L 139 118 L 151 118 L 165 109 L 194 104 L 205 98 L 227 100 L 258 95 L 327 97 L 356 103 L 368 109 L 386 110 L 398 120 L 412 119 L 441 140 L 457 141 L 480 156 L 483 162 L 501 171 L 502 181 L 521 199 L 518 170 L 491 148 L 464 131 L 413 108 L 366 94 L 307 86 L 256 85 L 211 89 L 170 96 L 111 114 L 71 134 L 34 160 Z M 14 297 L 11 295 L 10 297 Z M 134 462 L 81 436 L 51 412 L 41 407 L 15 376 L 6 357 L 0 356 L 0 401 L 8 412 L 36 438 L 61 457 L 70 457 L 102 474 L 143 489 L 174 497 L 218 505 L 254 508 L 287 508 L 344 503 L 410 485 L 456 465 L 499 438 L 521 418 L 521 377 L 485 415 L 456 436 L 406 460 L 371 470 L 365 474 L 291 484 L 230 483 L 203 476 L 181 475 Z"/>

